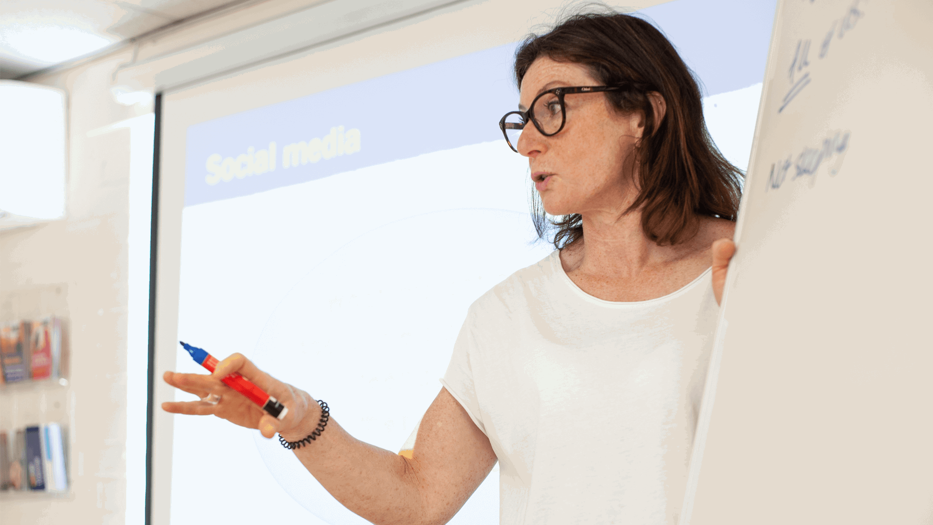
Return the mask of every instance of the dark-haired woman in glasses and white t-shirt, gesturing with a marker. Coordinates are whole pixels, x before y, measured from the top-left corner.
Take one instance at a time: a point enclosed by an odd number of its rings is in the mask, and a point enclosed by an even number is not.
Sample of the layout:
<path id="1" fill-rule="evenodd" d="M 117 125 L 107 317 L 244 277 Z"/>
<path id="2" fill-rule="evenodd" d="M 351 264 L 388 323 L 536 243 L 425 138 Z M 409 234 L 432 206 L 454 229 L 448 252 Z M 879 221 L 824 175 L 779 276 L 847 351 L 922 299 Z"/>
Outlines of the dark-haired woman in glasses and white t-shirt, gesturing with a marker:
<path id="1" fill-rule="evenodd" d="M 645 21 L 571 17 L 523 42 L 515 75 L 522 111 L 500 126 L 528 158 L 538 224 L 542 205 L 563 218 L 558 249 L 470 307 L 411 459 L 334 419 L 307 439 L 321 408 L 238 354 L 212 376 L 165 374 L 201 397 L 228 392 L 219 404 L 163 408 L 304 439 L 299 460 L 373 523 L 445 523 L 496 461 L 501 523 L 675 523 L 741 172 Z M 232 372 L 288 406 L 285 419 L 232 394 L 219 381 Z"/>

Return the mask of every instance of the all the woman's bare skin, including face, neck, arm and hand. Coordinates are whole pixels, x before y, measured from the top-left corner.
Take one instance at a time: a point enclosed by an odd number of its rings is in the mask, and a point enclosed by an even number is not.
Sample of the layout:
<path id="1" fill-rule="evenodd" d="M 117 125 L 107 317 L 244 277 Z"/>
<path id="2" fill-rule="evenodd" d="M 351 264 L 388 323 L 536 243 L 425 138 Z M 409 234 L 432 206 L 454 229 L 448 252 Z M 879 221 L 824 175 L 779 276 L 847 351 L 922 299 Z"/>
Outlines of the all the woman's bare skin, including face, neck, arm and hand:
<path id="1" fill-rule="evenodd" d="M 522 104 L 530 104 L 547 87 L 562 85 L 598 83 L 578 65 L 538 59 L 522 82 Z M 675 291 L 712 263 L 718 300 L 732 245 L 729 240 L 713 248 L 710 244 L 719 237 L 731 237 L 731 222 L 704 219 L 700 234 L 677 247 L 658 247 L 648 241 L 637 212 L 621 213 L 634 198 L 625 161 L 644 132 L 643 117 L 616 114 L 599 93 L 568 95 L 566 100 L 564 130 L 544 137 L 532 128 L 522 134 L 519 150 L 528 157 L 533 176 L 536 172 L 552 174 L 541 195 L 545 209 L 551 214 L 583 215 L 587 242 L 561 253 L 568 275 L 596 297 L 637 301 Z M 663 99 L 656 96 L 653 100 L 656 111 L 662 113 Z M 285 419 L 272 418 L 220 381 L 233 372 L 285 404 Z M 323 373 L 330 372 L 307 371 L 312 388 L 314 377 Z M 214 415 L 259 429 L 266 437 L 279 433 L 288 441 L 312 433 L 320 419 L 320 407 L 307 392 L 262 372 L 242 354 L 219 362 L 210 376 L 166 372 L 163 378 L 199 398 L 208 393 L 222 396 L 217 404 L 163 403 L 162 409 L 168 412 Z M 324 433 L 309 447 L 293 452 L 341 504 L 378 525 L 446 523 L 496 461 L 489 439 L 445 389 L 422 419 L 411 459 L 355 439 L 342 429 L 339 417 L 332 415 Z"/>

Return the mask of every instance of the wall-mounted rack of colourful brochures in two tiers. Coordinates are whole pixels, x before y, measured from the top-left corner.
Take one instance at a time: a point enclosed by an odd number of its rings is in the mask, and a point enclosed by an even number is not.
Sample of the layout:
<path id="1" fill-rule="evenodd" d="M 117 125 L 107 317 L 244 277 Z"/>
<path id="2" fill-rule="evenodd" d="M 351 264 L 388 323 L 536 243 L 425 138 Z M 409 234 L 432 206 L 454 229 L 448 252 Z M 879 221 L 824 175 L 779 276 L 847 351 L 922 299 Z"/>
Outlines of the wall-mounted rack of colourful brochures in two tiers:
<path id="1" fill-rule="evenodd" d="M 0 302 L 0 501 L 71 494 L 64 295 L 52 285 Z"/>

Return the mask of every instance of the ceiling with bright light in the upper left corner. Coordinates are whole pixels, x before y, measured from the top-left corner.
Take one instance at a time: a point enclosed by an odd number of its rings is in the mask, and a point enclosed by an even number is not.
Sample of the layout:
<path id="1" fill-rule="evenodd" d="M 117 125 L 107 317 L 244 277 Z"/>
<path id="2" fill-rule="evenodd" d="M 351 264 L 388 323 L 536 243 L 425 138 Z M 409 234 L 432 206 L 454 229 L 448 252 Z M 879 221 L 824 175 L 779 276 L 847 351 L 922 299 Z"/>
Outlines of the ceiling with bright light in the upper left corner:
<path id="1" fill-rule="evenodd" d="M 20 78 L 244 0 L 0 0 L 0 78 Z"/>

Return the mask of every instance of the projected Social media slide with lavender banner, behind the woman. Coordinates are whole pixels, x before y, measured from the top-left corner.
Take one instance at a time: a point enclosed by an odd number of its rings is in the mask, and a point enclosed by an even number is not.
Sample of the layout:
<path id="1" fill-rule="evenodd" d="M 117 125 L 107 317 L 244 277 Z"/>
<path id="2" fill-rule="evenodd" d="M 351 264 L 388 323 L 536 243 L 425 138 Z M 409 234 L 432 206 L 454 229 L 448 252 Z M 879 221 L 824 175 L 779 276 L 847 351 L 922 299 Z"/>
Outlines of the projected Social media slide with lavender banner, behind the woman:
<path id="1" fill-rule="evenodd" d="M 773 7 L 644 11 L 703 79 L 709 129 L 743 169 Z M 496 125 L 518 104 L 514 50 L 191 125 L 179 338 L 243 352 L 327 401 L 355 437 L 399 450 L 440 390 L 467 306 L 552 249 L 528 218 L 527 160 Z M 202 373 L 180 349 L 176 369 Z M 174 524 L 367 523 L 277 441 L 218 419 L 174 419 L 172 468 Z M 496 468 L 451 523 L 498 523 L 498 499 Z"/>

